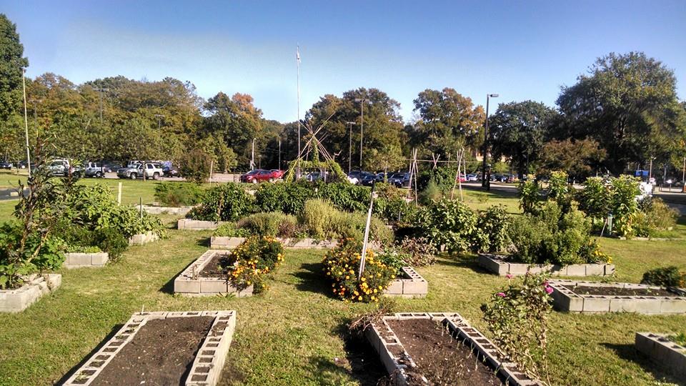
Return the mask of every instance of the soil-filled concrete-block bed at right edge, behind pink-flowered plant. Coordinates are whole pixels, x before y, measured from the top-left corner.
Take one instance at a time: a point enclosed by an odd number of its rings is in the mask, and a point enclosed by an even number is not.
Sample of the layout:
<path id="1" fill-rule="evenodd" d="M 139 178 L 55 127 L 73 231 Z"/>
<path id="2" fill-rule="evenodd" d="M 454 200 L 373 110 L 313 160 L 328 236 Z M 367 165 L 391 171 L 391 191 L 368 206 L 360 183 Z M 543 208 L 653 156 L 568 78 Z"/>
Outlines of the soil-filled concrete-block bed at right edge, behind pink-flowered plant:
<path id="1" fill-rule="evenodd" d="M 551 280 L 555 308 L 569 312 L 686 314 L 686 291 L 644 284 Z"/>

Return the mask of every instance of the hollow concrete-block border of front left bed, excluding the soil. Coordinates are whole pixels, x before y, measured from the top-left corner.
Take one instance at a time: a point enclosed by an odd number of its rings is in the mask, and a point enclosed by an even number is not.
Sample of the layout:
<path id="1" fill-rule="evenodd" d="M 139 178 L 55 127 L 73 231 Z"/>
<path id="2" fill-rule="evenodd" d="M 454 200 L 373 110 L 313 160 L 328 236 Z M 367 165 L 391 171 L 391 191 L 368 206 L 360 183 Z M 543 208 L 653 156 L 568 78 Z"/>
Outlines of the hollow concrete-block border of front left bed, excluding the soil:
<path id="1" fill-rule="evenodd" d="M 204 338 L 184 385 L 217 385 L 236 330 L 235 311 L 143 312 L 131 315 L 128 322 L 64 383 L 66 386 L 90 385 L 111 360 L 136 336 L 146 322 L 170 317 L 212 316 L 212 328 Z M 212 332 L 217 332 L 213 335 Z"/>

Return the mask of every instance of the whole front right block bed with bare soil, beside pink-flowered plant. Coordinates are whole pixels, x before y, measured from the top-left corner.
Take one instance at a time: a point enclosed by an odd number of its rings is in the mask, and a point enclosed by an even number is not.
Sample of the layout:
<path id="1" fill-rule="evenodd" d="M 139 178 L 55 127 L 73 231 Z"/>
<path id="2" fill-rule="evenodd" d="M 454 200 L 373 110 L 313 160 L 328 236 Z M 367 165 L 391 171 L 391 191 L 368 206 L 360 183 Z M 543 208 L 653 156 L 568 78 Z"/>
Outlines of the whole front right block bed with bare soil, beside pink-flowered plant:
<path id="1" fill-rule="evenodd" d="M 387 315 L 365 334 L 395 385 L 540 385 L 459 314 Z"/>

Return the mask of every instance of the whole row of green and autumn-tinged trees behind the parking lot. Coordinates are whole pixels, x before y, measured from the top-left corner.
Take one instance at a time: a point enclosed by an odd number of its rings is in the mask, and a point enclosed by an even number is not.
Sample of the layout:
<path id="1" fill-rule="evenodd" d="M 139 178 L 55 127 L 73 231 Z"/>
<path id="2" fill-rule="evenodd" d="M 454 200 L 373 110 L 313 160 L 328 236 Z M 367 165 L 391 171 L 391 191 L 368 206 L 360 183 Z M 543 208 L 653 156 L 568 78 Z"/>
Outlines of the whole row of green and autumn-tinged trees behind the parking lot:
<path id="1" fill-rule="evenodd" d="M 14 160 L 25 154 L 23 54 L 16 26 L 0 14 L 0 157 Z M 344 170 L 407 169 L 412 149 L 444 161 L 464 149 L 467 169 L 478 169 L 484 108 L 451 88 L 421 91 L 413 104 L 414 118 L 403 122 L 399 103 L 379 89 L 326 94 L 300 122 L 302 143 L 324 125 L 317 137 Z M 562 87 L 556 105 L 499 104 L 489 117 L 493 159 L 506 158 L 518 174 L 564 169 L 585 177 L 645 168 L 651 159 L 680 169 L 686 157 L 686 103 L 674 71 L 641 52 L 597 59 Z M 190 81 L 111 76 L 74 84 L 47 73 L 26 79 L 26 109 L 30 141 L 46 138 L 62 157 L 179 162 L 202 152 L 216 171 L 249 168 L 253 143 L 255 167 L 285 168 L 297 157 L 298 122 L 265 119 L 248 94 L 204 100 Z"/>

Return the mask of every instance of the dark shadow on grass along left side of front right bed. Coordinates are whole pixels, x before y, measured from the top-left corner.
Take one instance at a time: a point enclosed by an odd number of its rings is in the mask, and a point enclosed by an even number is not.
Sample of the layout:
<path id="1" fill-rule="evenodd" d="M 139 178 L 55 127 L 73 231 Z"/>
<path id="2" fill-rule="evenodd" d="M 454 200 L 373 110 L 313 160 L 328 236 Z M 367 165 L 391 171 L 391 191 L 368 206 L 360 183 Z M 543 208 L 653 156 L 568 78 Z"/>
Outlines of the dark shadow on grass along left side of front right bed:
<path id="1" fill-rule="evenodd" d="M 309 359 L 310 365 L 322 377 L 321 383 L 334 385 L 345 375 L 354 378 L 360 385 L 378 385 L 379 380 L 387 376 L 379 355 L 363 335 L 350 332 L 347 325 L 346 321 L 342 321 L 334 329 L 343 340 L 345 358 L 317 355 Z"/>

